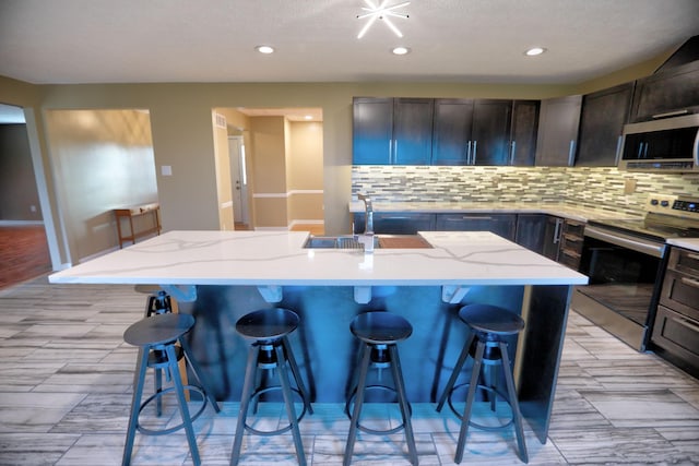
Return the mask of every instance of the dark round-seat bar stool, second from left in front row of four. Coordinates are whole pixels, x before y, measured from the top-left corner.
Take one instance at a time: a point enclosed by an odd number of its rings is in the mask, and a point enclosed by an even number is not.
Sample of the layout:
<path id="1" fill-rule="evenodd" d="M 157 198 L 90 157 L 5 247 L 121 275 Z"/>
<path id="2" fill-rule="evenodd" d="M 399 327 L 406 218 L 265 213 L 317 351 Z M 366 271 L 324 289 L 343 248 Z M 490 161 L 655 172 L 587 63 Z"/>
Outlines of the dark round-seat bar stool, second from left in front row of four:
<path id="1" fill-rule="evenodd" d="M 240 394 L 240 411 L 238 413 L 238 423 L 236 427 L 230 465 L 235 466 L 240 459 L 240 449 L 242 446 L 242 435 L 245 431 L 258 435 L 276 435 L 292 431 L 296 457 L 299 465 L 306 465 L 306 454 L 301 443 L 301 434 L 298 430 L 298 422 L 304 418 L 306 411 L 312 414 L 310 398 L 298 370 L 298 365 L 294 358 L 292 346 L 288 342 L 288 334 L 298 327 L 298 315 L 283 308 L 263 309 L 244 315 L 236 322 L 236 331 L 246 339 L 251 340 L 248 350 L 248 362 L 245 370 L 245 381 L 242 393 Z M 289 383 L 288 367 L 292 369 L 296 387 Z M 263 378 L 261 371 L 273 371 L 277 369 L 280 385 L 262 385 Z M 273 372 L 272 372 L 273 373 Z M 256 381 L 260 381 L 259 383 Z M 257 386 L 254 386 L 257 385 Z M 261 395 L 272 391 L 281 391 L 284 397 L 288 426 L 272 430 L 262 431 L 252 428 L 247 423 L 250 403 L 253 402 L 254 409 Z M 299 416 L 296 416 L 293 394 L 296 393 L 304 402 L 304 408 Z"/>

